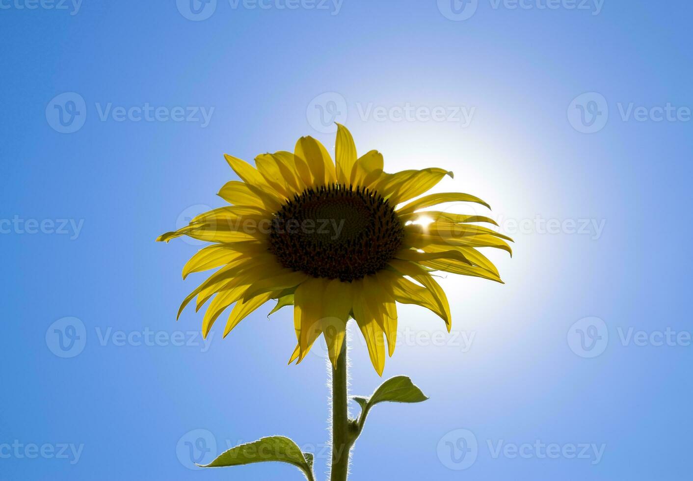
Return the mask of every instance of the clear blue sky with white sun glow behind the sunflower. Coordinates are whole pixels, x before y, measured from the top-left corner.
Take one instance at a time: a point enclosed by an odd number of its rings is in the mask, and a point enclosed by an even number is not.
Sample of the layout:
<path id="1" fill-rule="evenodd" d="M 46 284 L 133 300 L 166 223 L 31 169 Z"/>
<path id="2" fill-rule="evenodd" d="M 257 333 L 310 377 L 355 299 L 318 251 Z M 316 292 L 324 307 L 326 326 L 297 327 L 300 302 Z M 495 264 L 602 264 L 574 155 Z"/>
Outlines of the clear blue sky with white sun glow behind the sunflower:
<path id="1" fill-rule="evenodd" d="M 0 0 L 0 479 L 301 479 L 191 470 L 281 434 L 328 462 L 326 362 L 291 313 L 225 340 L 179 302 L 251 160 L 334 121 L 391 170 L 453 170 L 516 240 L 505 285 L 399 311 L 355 480 L 690 477 L 690 2 Z M 451 207 L 453 208 L 453 207 Z M 481 212 L 481 210 L 480 210 Z M 488 211 L 483 211 L 488 215 Z M 657 242 L 655 242 L 657 241 Z M 351 392 L 382 381 L 351 332 Z M 353 406 L 353 412 L 357 407 Z"/>

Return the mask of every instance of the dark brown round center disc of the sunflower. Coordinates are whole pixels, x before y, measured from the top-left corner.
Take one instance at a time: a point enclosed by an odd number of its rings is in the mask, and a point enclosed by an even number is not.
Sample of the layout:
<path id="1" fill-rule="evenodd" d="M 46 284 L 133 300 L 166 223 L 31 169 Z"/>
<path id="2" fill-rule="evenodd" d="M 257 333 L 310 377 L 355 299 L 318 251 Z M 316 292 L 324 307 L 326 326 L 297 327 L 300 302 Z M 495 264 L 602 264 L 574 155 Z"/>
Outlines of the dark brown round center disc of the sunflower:
<path id="1" fill-rule="evenodd" d="M 382 196 L 333 184 L 283 204 L 270 227 L 270 252 L 286 268 L 353 281 L 385 268 L 403 239 L 402 222 Z"/>

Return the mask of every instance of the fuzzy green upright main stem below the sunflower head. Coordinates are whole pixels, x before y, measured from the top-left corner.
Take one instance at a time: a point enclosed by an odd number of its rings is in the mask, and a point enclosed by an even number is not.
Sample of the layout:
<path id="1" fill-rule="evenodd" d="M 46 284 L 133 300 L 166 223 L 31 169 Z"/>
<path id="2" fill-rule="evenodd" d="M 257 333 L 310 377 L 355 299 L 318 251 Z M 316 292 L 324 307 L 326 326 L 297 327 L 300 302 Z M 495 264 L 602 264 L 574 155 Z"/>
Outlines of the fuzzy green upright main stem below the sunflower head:
<path id="1" fill-rule="evenodd" d="M 347 409 L 347 340 L 342 344 L 337 369 L 332 369 L 332 470 L 330 481 L 347 481 L 349 450 L 353 439 L 349 433 Z"/>

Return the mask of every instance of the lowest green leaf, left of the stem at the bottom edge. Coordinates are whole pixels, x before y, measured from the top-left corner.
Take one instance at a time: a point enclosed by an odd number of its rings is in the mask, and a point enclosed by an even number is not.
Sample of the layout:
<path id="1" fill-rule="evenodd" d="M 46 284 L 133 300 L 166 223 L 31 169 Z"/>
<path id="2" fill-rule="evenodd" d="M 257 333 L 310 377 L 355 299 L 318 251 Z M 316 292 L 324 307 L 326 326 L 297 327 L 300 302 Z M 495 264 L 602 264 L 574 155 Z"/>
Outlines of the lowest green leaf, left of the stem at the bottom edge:
<path id="1" fill-rule="evenodd" d="M 240 466 L 256 462 L 286 462 L 301 469 L 309 480 L 313 479 L 313 455 L 301 453 L 301 448 L 288 437 L 263 437 L 252 443 L 241 444 L 221 453 L 216 460 L 202 466 L 219 468 L 223 466 Z"/>

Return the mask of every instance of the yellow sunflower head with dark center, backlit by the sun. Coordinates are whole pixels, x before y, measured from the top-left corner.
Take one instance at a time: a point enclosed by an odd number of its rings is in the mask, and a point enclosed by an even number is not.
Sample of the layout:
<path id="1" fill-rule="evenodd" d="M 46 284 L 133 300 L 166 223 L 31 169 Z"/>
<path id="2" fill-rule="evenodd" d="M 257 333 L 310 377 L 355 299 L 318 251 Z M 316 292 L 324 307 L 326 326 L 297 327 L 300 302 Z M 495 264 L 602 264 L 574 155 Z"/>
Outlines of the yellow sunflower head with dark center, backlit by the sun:
<path id="1" fill-rule="evenodd" d="M 477 225 L 491 218 L 421 211 L 445 202 L 483 200 L 465 193 L 423 195 L 445 175 L 441 168 L 385 173 L 383 156 L 357 157 L 351 133 L 337 125 L 333 162 L 312 137 L 294 152 L 262 154 L 255 167 L 225 155 L 240 177 L 219 194 L 230 206 L 193 218 L 157 241 L 190 236 L 211 245 L 185 265 L 192 272 L 218 269 L 183 301 L 178 316 L 197 297 L 210 301 L 202 320 L 207 336 L 232 304 L 224 336 L 249 313 L 277 299 L 272 313 L 294 306 L 301 362 L 324 335 L 333 366 L 342 352 L 347 322 L 364 336 L 371 362 L 382 376 L 385 344 L 392 356 L 397 335 L 396 303 L 417 304 L 437 314 L 450 331 L 450 307 L 432 272 L 444 271 L 502 282 L 477 247 L 511 249 L 511 239 Z M 415 199 L 415 200 L 412 200 Z"/>

